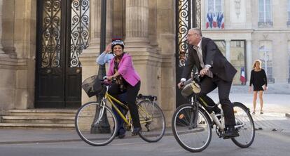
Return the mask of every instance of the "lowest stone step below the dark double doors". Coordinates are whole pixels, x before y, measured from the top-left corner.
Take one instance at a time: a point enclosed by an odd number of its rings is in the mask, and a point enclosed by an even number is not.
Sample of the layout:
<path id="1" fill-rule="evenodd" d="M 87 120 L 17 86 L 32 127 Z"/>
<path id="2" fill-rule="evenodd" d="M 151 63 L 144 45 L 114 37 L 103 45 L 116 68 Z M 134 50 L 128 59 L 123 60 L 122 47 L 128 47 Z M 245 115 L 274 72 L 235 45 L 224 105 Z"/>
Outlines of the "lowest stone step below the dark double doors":
<path id="1" fill-rule="evenodd" d="M 74 129 L 74 124 L 25 124 L 25 123 L 0 123 L 6 129 Z"/>

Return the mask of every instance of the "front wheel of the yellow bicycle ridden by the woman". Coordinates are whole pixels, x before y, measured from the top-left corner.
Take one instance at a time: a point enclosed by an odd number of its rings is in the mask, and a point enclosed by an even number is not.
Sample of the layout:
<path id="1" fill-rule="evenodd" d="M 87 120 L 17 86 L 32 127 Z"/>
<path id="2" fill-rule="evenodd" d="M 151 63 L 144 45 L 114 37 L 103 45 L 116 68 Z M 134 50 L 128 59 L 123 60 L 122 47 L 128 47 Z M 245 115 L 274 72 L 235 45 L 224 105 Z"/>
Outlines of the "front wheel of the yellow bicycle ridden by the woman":
<path id="1" fill-rule="evenodd" d="M 90 102 L 81 106 L 74 122 L 78 136 L 90 145 L 106 145 L 116 136 L 116 116 L 111 108 L 100 107 L 99 103 Z"/>

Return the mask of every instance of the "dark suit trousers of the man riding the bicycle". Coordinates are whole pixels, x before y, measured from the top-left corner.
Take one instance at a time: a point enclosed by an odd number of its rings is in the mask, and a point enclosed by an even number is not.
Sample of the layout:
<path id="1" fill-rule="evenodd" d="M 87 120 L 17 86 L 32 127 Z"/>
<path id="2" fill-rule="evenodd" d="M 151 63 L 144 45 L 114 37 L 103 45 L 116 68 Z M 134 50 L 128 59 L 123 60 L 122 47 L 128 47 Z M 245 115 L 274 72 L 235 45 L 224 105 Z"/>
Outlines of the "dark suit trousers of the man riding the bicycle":
<path id="1" fill-rule="evenodd" d="M 234 126 L 235 125 L 235 115 L 233 112 L 233 104 L 229 100 L 230 96 L 230 87 L 232 86 L 232 82 L 226 82 L 219 77 L 214 75 L 214 78 L 210 77 L 202 77 L 200 81 L 201 91 L 198 94 L 201 98 L 205 98 L 207 93 L 216 89 L 219 89 L 219 101 L 221 103 L 221 107 L 223 108 L 223 115 L 225 116 L 225 124 L 226 126 Z M 209 98 L 208 96 L 206 98 Z"/>

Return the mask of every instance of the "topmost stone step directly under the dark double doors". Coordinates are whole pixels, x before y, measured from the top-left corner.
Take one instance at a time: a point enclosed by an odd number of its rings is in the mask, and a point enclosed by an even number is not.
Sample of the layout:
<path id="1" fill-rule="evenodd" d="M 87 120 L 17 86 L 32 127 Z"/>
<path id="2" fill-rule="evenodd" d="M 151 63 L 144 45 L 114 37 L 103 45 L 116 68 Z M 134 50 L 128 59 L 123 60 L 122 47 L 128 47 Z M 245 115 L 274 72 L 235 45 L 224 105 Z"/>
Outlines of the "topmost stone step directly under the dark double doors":
<path id="1" fill-rule="evenodd" d="M 77 110 L 61 109 L 29 109 L 29 110 L 8 110 L 13 116 L 74 116 Z"/>

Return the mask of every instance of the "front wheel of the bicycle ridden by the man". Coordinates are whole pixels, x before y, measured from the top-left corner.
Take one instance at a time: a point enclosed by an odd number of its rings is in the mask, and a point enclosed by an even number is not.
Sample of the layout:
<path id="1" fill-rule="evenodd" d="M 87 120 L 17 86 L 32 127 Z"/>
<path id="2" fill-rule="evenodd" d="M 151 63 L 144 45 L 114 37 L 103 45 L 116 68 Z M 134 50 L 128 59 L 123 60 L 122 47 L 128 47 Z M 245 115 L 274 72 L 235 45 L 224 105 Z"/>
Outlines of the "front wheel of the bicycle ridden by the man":
<path id="1" fill-rule="evenodd" d="M 194 119 L 198 116 L 198 119 Z M 193 123 L 193 122 L 196 123 Z M 212 139 L 209 117 L 204 110 L 198 109 L 195 115 L 193 105 L 181 105 L 172 117 L 172 132 L 182 148 L 191 152 L 205 150 Z"/>

